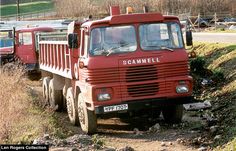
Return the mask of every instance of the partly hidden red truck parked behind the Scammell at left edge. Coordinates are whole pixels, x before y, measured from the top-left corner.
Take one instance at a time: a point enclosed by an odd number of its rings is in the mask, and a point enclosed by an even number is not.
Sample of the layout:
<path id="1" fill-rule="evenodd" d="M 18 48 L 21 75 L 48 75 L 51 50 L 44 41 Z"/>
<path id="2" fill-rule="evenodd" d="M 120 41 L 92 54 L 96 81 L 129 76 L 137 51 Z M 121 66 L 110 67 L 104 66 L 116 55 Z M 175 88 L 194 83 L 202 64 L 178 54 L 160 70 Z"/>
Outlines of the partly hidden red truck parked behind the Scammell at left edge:
<path id="1" fill-rule="evenodd" d="M 1 37 L 0 58 L 1 64 L 18 60 L 24 64 L 27 71 L 38 71 L 37 33 L 52 32 L 51 27 L 33 27 L 19 30 L 1 30 L 0 33 L 8 33 Z"/>

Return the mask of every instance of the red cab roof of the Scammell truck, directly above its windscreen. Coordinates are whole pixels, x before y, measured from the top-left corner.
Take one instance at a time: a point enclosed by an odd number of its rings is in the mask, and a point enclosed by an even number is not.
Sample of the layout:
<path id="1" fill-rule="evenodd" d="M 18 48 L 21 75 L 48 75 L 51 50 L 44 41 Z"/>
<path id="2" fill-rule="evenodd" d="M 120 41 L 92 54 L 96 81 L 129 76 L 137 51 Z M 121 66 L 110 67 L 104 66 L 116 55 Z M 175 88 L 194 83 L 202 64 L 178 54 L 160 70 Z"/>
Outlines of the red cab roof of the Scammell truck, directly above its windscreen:
<path id="1" fill-rule="evenodd" d="M 101 20 L 88 21 L 82 24 L 82 26 L 92 26 L 99 24 L 110 24 L 110 25 L 118 25 L 118 24 L 129 24 L 129 23 L 147 23 L 147 22 L 157 22 L 164 20 L 175 20 L 178 21 L 178 17 L 176 16 L 163 16 L 160 13 L 137 13 L 137 14 L 122 14 L 122 15 L 114 15 L 108 16 Z"/>

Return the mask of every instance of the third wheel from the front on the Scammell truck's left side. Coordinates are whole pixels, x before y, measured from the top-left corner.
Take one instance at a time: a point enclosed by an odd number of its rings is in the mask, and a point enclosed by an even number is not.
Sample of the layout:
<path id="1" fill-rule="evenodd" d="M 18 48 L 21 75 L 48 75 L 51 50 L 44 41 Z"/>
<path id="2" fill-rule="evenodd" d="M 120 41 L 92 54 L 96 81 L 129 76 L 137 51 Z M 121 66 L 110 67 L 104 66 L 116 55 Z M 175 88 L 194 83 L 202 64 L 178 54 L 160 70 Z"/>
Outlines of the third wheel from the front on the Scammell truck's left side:
<path id="1" fill-rule="evenodd" d="M 54 111 L 62 111 L 63 95 L 62 90 L 56 90 L 53 84 L 54 79 L 49 82 L 49 104 Z"/>

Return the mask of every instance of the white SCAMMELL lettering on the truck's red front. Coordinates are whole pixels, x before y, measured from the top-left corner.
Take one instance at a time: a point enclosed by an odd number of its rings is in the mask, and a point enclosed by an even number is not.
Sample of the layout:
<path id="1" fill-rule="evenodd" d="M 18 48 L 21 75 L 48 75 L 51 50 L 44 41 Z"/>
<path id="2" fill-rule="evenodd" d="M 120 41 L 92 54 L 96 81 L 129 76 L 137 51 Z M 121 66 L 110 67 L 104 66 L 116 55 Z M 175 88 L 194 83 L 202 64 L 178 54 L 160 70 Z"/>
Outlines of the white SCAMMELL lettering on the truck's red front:
<path id="1" fill-rule="evenodd" d="M 159 58 L 140 58 L 140 59 L 129 59 L 123 60 L 123 65 L 133 65 L 133 64 L 150 64 L 160 62 Z"/>

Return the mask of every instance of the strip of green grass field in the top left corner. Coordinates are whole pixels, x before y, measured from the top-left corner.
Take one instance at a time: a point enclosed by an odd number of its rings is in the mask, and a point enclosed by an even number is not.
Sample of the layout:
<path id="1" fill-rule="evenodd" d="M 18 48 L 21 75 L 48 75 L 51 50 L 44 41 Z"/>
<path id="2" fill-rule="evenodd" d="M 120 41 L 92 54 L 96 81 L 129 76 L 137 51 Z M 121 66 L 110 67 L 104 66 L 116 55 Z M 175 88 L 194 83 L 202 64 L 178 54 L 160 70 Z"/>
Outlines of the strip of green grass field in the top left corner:
<path id="1" fill-rule="evenodd" d="M 52 1 L 40 1 L 32 3 L 20 4 L 20 14 L 42 12 L 44 10 L 53 9 L 54 4 Z M 17 6 L 15 4 L 0 6 L 0 15 L 8 16 L 17 14 Z"/>

